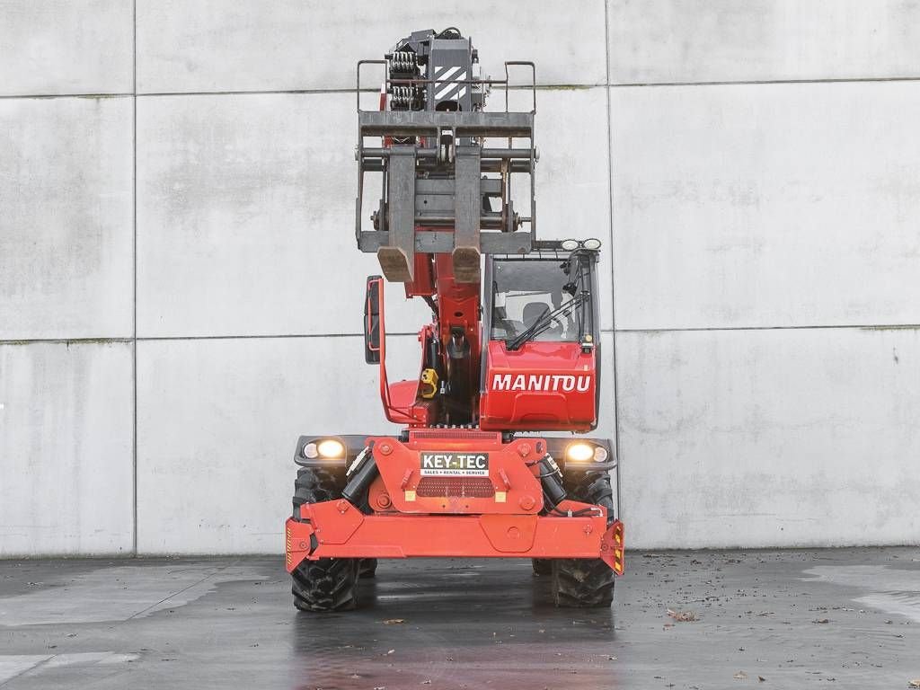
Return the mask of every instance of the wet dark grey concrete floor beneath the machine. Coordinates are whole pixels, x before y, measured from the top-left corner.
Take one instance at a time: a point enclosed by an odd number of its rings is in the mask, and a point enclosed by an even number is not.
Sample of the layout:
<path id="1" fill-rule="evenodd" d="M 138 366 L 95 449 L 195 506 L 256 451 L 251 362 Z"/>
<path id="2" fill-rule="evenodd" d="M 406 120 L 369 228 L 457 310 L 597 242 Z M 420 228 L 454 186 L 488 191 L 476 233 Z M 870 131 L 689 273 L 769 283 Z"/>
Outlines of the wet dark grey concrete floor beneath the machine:
<path id="1" fill-rule="evenodd" d="M 529 561 L 383 562 L 296 614 L 281 558 L 0 562 L 0 687 L 904 688 L 920 549 L 632 553 L 610 610 Z M 668 615 L 690 612 L 695 621 Z M 763 680 L 761 680 L 763 679 Z"/>

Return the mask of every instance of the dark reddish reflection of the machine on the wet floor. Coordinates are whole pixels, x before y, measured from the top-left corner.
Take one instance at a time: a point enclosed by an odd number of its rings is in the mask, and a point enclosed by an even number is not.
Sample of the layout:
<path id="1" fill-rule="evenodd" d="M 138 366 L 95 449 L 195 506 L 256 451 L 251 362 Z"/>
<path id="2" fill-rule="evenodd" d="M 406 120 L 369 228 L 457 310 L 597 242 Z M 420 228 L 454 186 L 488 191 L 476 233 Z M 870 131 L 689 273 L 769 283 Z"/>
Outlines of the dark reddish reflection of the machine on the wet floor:
<path id="1" fill-rule="evenodd" d="M 354 611 L 296 614 L 291 687 L 618 684 L 611 608 L 555 607 L 529 561 L 435 563 L 382 566 Z"/>

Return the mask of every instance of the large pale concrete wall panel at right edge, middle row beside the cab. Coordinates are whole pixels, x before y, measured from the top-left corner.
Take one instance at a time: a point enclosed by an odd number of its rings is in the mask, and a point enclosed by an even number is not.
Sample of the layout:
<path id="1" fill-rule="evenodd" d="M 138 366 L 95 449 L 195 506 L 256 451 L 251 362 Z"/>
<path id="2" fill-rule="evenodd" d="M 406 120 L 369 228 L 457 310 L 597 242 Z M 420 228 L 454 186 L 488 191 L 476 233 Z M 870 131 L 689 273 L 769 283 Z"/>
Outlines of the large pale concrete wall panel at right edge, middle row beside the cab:
<path id="1" fill-rule="evenodd" d="M 611 96 L 616 328 L 920 323 L 920 84 Z"/>

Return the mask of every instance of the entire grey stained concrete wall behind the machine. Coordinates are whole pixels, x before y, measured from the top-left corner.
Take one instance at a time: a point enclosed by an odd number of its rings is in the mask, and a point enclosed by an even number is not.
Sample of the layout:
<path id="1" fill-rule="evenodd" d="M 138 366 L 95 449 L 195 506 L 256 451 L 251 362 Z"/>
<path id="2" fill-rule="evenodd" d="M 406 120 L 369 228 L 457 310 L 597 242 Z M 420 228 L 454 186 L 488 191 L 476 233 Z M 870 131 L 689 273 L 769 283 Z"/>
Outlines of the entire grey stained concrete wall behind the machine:
<path id="1" fill-rule="evenodd" d="M 920 4 L 4 0 L 0 555 L 279 551 L 296 435 L 388 428 L 347 89 L 450 25 L 604 240 L 629 542 L 920 542 Z"/>

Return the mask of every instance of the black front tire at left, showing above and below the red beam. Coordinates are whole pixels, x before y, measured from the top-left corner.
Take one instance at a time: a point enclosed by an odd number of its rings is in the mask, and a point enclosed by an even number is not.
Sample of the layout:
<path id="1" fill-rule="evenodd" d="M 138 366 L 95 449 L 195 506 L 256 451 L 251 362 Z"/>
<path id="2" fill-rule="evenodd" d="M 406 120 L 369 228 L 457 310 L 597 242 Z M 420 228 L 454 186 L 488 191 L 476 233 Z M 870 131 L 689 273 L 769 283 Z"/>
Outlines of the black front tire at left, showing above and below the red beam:
<path id="1" fill-rule="evenodd" d="M 345 484 L 344 469 L 303 467 L 294 482 L 293 516 L 304 503 L 338 499 Z M 360 558 L 305 560 L 291 573 L 293 605 L 300 611 L 347 611 L 357 603 Z"/>

